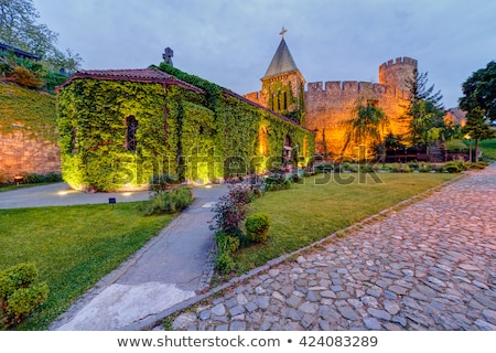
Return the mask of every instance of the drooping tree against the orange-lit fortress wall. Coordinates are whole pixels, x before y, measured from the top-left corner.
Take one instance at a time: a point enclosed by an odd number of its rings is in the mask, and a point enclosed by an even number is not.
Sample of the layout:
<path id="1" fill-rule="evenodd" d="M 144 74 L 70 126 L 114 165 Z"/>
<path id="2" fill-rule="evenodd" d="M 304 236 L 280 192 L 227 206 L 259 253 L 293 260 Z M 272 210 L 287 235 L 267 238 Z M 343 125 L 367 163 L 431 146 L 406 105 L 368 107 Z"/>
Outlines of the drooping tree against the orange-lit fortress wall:
<path id="1" fill-rule="evenodd" d="M 382 157 L 386 152 L 384 130 L 388 122 L 388 117 L 381 108 L 370 101 L 364 103 L 363 97 L 358 98 L 352 110 L 352 118 L 345 122 L 348 127 L 348 133 L 343 152 L 353 141 L 364 148 L 364 151 L 360 151 L 360 158 L 367 159 L 367 149 L 371 147 L 378 147 Z"/>

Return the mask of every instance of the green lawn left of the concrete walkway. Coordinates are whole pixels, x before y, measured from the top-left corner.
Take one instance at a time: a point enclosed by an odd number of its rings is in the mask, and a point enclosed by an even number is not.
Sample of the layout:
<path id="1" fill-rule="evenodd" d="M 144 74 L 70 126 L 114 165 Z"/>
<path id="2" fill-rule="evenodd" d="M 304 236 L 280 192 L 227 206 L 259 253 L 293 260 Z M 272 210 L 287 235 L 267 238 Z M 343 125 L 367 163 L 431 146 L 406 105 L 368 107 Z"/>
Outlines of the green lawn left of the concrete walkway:
<path id="1" fill-rule="evenodd" d="M 34 263 L 48 300 L 21 330 L 44 330 L 74 300 L 157 235 L 172 215 L 138 203 L 0 210 L 0 269 Z"/>

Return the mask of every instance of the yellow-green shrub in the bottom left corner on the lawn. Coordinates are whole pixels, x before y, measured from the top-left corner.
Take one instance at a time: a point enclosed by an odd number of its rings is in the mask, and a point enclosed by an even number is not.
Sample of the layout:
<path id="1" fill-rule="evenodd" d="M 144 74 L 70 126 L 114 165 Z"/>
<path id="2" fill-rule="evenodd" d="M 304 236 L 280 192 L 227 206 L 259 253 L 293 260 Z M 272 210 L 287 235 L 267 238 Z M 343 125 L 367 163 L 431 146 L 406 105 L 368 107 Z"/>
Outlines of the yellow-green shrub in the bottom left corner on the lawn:
<path id="1" fill-rule="evenodd" d="M 9 328 L 29 317 L 48 296 L 45 282 L 34 284 L 34 264 L 19 264 L 0 271 L 0 324 Z"/>

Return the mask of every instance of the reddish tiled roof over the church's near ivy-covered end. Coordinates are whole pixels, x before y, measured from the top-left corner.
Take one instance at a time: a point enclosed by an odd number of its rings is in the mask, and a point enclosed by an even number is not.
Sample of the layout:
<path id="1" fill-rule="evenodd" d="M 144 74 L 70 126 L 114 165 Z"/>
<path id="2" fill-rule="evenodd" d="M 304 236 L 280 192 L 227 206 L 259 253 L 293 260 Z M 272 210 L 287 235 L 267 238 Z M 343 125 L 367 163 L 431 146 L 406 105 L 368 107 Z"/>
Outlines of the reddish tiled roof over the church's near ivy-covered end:
<path id="1" fill-rule="evenodd" d="M 198 87 L 190 85 L 157 68 L 123 68 L 123 69 L 80 69 L 77 71 L 61 87 L 67 86 L 74 79 L 94 78 L 108 81 L 127 81 L 142 83 L 174 84 L 192 90 L 202 92 Z"/>

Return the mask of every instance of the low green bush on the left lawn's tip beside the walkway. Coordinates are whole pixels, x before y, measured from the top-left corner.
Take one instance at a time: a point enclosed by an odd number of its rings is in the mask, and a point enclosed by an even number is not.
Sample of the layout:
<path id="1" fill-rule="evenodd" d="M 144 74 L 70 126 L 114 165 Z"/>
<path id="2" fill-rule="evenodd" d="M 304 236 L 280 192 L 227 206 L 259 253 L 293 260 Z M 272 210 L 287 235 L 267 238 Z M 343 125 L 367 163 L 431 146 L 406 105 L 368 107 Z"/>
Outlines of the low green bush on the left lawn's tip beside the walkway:
<path id="1" fill-rule="evenodd" d="M 193 189 L 174 186 L 168 191 L 155 194 L 151 200 L 143 202 L 140 211 L 144 215 L 173 214 L 186 208 L 193 202 Z"/>

